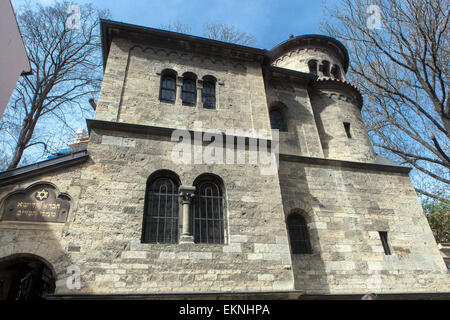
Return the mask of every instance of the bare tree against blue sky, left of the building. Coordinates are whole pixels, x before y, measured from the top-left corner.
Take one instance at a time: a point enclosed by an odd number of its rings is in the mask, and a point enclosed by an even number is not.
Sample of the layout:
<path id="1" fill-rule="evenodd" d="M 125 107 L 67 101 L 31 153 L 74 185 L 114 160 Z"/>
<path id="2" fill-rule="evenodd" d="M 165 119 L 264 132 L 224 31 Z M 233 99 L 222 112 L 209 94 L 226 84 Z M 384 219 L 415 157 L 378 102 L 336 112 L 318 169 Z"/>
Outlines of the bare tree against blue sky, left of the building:
<path id="1" fill-rule="evenodd" d="M 9 122 L 16 144 L 8 169 L 16 168 L 24 152 L 33 146 L 43 145 L 44 152 L 50 149 L 54 133 L 42 130 L 45 126 L 40 124 L 44 120 L 51 123 L 48 130 L 56 127 L 56 122 L 69 128 L 64 115 L 82 118 L 80 105 L 98 94 L 102 77 L 98 17 L 108 13 L 91 4 L 77 5 L 80 15 L 75 18 L 79 25 L 70 27 L 70 5 L 74 3 L 37 4 L 17 15 L 33 75 L 19 80 L 5 113 L 6 120 L 2 119 Z M 76 107 L 80 108 L 78 113 Z"/>

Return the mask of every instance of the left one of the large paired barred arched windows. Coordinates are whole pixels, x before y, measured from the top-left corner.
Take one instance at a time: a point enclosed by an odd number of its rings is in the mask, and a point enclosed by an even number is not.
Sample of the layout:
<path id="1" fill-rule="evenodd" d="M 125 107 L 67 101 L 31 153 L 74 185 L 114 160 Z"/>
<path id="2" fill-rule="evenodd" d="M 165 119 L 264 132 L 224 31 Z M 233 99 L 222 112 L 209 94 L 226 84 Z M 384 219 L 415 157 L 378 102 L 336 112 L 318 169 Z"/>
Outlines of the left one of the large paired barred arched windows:
<path id="1" fill-rule="evenodd" d="M 142 242 L 178 242 L 179 181 L 170 173 L 150 177 L 144 206 Z"/>

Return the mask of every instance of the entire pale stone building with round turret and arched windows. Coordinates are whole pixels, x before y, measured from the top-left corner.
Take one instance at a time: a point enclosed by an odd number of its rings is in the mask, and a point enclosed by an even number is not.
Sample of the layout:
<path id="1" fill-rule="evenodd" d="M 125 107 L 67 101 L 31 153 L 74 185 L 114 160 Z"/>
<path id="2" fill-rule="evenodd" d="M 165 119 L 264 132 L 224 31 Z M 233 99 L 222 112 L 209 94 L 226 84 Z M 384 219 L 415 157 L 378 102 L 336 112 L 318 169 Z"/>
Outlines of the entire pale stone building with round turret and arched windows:
<path id="1" fill-rule="evenodd" d="M 448 297 L 409 169 L 374 154 L 340 42 L 101 32 L 87 148 L 0 174 L 2 298 Z"/>

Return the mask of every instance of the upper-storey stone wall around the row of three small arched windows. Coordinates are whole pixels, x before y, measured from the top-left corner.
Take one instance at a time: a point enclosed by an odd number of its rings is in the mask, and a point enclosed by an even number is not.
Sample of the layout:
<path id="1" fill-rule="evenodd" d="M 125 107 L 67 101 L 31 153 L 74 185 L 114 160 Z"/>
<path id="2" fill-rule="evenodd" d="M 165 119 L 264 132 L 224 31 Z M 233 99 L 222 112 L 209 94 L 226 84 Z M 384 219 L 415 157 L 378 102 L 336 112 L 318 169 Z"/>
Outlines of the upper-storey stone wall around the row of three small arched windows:
<path id="1" fill-rule="evenodd" d="M 159 100 L 161 72 L 172 69 L 182 77 L 192 72 L 198 79 L 217 79 L 216 109 L 201 103 L 201 83 L 197 84 L 197 105 L 181 102 L 181 78 L 177 79 L 174 104 Z M 120 121 L 178 129 L 193 129 L 201 121 L 204 129 L 270 130 L 265 88 L 259 62 L 192 54 L 147 46 L 115 38 L 111 44 L 96 120 Z M 265 136 L 270 133 L 262 133 Z"/>

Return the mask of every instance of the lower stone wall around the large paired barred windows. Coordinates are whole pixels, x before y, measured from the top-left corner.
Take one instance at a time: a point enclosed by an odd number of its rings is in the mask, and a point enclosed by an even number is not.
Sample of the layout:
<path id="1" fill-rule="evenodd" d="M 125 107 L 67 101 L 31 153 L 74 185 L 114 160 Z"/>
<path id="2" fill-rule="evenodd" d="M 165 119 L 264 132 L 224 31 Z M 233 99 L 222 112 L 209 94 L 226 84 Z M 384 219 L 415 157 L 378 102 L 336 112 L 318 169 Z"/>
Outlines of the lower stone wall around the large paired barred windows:
<path id="1" fill-rule="evenodd" d="M 57 294 L 292 290 L 278 176 L 262 176 L 250 164 L 180 166 L 171 161 L 174 144 L 92 130 L 89 163 L 14 186 L 50 181 L 67 192 L 75 201 L 67 223 L 1 221 L 0 258 L 31 253 L 48 260 L 59 277 Z M 160 169 L 177 173 L 182 185 L 203 173 L 223 179 L 225 244 L 141 243 L 147 178 Z M 80 290 L 65 286 L 69 265 L 80 268 Z"/>

